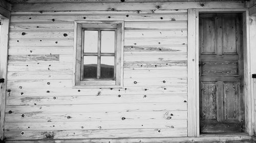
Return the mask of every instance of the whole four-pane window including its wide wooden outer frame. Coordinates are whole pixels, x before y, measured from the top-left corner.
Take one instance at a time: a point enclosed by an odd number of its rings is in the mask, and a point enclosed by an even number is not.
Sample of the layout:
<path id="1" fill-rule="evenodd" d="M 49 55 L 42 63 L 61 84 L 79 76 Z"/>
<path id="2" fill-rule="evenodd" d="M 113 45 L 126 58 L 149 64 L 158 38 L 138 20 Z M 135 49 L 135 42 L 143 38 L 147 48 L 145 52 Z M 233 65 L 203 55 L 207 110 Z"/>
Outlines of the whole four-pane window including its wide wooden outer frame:
<path id="1" fill-rule="evenodd" d="M 122 87 L 123 22 L 76 21 L 74 39 L 74 87 Z"/>

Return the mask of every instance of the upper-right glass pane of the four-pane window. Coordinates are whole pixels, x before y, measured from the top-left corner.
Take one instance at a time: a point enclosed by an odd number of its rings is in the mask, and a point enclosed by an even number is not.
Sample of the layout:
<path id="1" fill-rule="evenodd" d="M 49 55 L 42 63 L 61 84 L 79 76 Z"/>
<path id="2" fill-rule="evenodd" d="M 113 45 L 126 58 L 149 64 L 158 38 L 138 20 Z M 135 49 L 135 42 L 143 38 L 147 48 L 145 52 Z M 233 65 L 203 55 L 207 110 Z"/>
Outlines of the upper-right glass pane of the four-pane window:
<path id="1" fill-rule="evenodd" d="M 115 52 L 115 31 L 101 31 L 101 52 Z"/>

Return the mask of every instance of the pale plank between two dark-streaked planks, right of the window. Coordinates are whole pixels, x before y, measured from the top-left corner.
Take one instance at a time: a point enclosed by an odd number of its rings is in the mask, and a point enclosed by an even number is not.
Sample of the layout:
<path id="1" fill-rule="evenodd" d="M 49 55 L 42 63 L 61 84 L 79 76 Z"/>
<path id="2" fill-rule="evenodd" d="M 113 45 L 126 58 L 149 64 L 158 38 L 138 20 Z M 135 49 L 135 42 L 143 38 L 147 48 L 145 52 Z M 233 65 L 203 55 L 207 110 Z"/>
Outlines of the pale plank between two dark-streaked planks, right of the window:
<path id="1" fill-rule="evenodd" d="M 186 53 L 124 54 L 124 62 L 186 61 Z"/>

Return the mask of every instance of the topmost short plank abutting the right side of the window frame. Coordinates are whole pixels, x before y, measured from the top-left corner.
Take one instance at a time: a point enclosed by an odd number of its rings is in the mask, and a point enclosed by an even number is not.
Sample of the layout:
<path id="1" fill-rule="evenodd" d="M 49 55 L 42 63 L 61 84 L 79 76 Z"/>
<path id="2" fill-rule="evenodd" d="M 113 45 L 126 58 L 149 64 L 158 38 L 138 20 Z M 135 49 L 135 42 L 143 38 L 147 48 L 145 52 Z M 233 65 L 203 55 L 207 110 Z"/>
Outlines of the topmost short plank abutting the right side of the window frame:
<path id="1" fill-rule="evenodd" d="M 125 22 L 124 30 L 186 30 L 187 21 Z"/>

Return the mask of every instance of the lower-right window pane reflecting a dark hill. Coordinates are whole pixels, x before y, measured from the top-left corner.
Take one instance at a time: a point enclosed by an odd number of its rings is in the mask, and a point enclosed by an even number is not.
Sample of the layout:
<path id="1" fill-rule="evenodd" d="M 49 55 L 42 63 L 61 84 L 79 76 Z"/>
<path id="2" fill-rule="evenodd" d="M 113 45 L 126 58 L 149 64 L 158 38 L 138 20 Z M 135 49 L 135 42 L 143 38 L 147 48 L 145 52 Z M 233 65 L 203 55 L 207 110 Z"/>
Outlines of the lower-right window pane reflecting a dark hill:
<path id="1" fill-rule="evenodd" d="M 101 78 L 114 78 L 114 56 L 101 56 L 100 59 L 100 77 Z"/>

